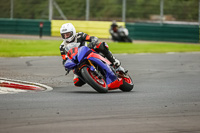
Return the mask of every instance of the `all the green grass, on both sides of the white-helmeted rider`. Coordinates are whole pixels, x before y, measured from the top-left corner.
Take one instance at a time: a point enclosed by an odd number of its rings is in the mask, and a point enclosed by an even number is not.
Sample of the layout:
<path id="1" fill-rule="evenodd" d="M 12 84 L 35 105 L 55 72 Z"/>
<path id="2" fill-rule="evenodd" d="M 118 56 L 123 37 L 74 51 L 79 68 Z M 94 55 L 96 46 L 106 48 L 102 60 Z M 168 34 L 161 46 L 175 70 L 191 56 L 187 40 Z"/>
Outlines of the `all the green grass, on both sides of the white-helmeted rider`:
<path id="1" fill-rule="evenodd" d="M 0 39 L 0 57 L 58 56 L 62 40 L 15 40 Z M 200 51 L 199 44 L 168 42 L 155 43 L 108 43 L 112 53 L 166 53 Z"/>

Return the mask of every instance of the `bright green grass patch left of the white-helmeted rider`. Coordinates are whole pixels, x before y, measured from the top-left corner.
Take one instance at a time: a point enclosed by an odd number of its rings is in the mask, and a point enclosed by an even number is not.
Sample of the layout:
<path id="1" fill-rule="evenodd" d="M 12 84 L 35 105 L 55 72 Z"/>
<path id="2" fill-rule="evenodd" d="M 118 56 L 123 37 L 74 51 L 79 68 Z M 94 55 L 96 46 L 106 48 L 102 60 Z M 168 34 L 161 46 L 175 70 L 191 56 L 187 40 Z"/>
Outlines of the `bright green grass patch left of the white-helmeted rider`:
<path id="1" fill-rule="evenodd" d="M 62 41 L 0 39 L 0 57 L 60 55 Z"/>

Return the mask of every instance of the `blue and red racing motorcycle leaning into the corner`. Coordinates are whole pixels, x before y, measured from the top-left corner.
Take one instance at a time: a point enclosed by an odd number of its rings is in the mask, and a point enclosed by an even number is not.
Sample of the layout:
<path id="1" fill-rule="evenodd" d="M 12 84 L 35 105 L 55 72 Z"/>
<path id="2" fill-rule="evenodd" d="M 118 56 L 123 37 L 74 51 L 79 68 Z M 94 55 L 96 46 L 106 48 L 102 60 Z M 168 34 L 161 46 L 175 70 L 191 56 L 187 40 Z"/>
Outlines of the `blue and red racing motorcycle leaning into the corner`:
<path id="1" fill-rule="evenodd" d="M 66 51 L 68 60 L 65 68 L 73 70 L 97 92 L 107 93 L 115 89 L 129 92 L 133 89 L 134 84 L 128 72 L 122 67 L 115 69 L 110 61 L 94 50 L 80 46 L 80 43 L 70 43 Z"/>

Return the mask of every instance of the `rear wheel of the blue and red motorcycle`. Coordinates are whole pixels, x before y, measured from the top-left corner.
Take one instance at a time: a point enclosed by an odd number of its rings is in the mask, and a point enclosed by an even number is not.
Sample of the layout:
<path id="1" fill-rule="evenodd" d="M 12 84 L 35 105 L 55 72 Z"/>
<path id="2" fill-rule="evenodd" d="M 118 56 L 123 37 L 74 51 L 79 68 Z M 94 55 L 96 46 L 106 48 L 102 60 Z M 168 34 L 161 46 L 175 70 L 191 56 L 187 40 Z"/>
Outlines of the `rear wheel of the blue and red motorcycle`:
<path id="1" fill-rule="evenodd" d="M 119 89 L 124 92 L 131 91 L 134 87 L 131 77 L 127 75 L 127 77 L 123 77 L 122 79 L 123 79 L 123 84 L 119 87 Z"/>

